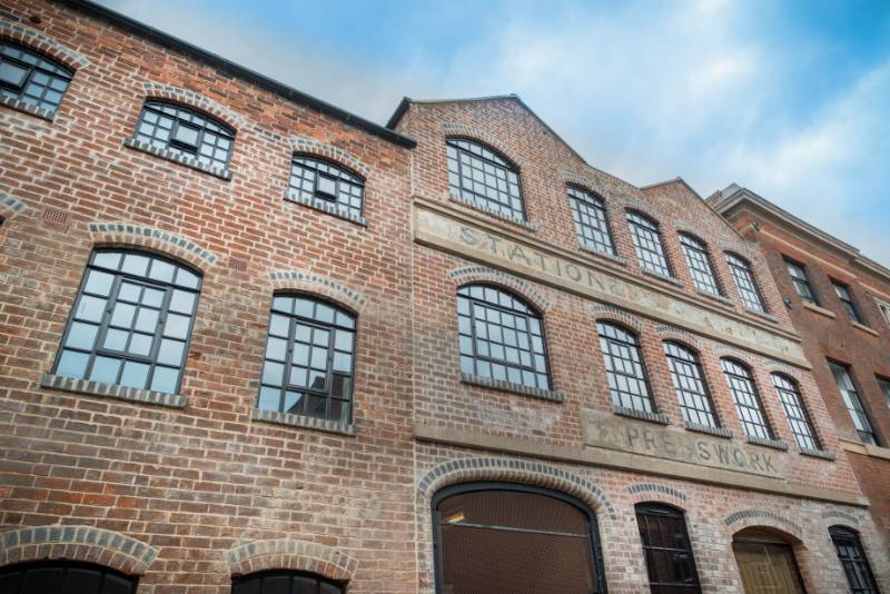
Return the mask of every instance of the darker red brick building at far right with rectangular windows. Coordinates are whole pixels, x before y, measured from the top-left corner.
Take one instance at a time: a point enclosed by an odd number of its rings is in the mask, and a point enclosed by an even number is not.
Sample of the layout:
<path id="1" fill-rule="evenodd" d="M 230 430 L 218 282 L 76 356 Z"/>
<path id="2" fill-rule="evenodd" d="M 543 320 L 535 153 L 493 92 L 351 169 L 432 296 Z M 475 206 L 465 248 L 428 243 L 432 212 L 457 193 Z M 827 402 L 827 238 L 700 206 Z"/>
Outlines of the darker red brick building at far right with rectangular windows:
<path id="1" fill-rule="evenodd" d="M 890 270 L 746 188 L 709 200 L 760 244 L 839 445 L 890 543 Z"/>

